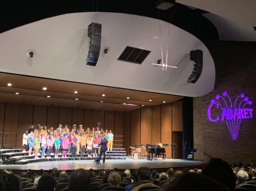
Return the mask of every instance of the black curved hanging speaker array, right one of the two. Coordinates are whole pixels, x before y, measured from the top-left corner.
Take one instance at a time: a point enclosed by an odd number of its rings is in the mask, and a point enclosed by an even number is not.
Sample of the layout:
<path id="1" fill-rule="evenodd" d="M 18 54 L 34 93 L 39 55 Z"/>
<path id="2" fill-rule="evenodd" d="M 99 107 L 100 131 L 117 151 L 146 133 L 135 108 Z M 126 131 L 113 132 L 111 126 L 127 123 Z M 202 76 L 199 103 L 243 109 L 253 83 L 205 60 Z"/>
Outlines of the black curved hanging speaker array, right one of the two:
<path id="1" fill-rule="evenodd" d="M 193 71 L 189 76 L 188 82 L 195 84 L 199 79 L 203 70 L 203 51 L 202 50 L 190 51 L 190 60 L 195 63 L 193 65 Z"/>

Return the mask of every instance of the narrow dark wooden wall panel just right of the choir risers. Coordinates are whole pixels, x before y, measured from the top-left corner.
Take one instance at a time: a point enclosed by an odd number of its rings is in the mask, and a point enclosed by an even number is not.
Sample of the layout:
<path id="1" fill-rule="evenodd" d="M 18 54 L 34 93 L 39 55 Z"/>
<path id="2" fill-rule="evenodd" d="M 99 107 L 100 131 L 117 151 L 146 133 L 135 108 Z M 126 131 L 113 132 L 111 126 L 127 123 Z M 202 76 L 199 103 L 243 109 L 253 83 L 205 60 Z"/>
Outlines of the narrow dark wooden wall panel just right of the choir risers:
<path id="1" fill-rule="evenodd" d="M 123 113 L 123 147 L 130 153 L 130 112 Z"/>

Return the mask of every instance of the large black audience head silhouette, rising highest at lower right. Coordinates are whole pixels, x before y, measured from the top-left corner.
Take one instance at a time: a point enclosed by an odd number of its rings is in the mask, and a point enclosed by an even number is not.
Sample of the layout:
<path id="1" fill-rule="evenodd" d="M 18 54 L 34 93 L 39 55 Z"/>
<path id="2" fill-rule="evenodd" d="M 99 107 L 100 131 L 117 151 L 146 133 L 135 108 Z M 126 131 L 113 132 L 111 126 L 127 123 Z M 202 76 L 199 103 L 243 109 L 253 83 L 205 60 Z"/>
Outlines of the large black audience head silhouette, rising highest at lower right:
<path id="1" fill-rule="evenodd" d="M 223 183 L 231 190 L 236 187 L 236 177 L 231 166 L 220 158 L 212 158 L 204 167 L 202 174 Z"/>

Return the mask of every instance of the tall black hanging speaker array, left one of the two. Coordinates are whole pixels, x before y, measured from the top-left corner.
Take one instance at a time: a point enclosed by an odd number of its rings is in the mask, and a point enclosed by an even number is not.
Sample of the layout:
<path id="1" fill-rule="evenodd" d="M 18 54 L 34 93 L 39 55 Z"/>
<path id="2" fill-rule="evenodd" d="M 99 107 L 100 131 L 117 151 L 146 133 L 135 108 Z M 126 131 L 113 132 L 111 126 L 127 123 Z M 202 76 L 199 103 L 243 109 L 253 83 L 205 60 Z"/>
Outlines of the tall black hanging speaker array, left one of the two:
<path id="1" fill-rule="evenodd" d="M 91 23 L 88 26 L 88 36 L 90 38 L 90 45 L 86 65 L 93 65 L 95 67 L 100 55 L 101 24 Z"/>

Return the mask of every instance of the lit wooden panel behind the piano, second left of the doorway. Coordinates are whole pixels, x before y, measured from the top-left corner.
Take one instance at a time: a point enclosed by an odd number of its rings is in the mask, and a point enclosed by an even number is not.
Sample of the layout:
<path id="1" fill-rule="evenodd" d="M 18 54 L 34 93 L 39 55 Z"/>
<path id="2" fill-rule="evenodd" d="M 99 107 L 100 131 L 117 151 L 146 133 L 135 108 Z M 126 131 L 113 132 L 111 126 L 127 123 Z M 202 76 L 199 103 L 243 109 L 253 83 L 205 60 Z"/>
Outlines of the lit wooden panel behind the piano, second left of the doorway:
<path id="1" fill-rule="evenodd" d="M 152 107 L 152 140 L 151 144 L 161 141 L 161 106 Z"/>

